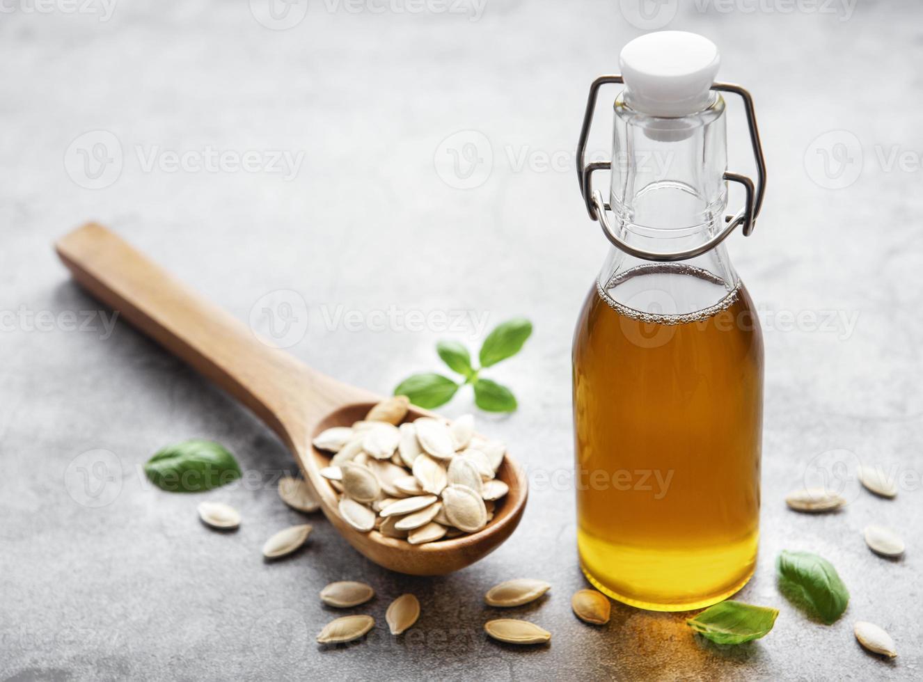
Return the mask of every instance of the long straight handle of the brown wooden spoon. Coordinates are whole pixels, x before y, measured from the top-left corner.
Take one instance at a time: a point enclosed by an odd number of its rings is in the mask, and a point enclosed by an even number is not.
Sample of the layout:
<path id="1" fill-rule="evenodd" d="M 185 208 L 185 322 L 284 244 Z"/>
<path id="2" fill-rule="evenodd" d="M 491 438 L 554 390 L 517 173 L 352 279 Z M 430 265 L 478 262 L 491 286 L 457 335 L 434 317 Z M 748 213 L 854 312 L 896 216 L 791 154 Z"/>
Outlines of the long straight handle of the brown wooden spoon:
<path id="1" fill-rule="evenodd" d="M 332 379 L 260 341 L 102 225 L 67 233 L 55 249 L 102 303 L 243 402 L 290 445 L 306 448 L 306 411 L 319 417 L 330 409 L 321 385 Z"/>

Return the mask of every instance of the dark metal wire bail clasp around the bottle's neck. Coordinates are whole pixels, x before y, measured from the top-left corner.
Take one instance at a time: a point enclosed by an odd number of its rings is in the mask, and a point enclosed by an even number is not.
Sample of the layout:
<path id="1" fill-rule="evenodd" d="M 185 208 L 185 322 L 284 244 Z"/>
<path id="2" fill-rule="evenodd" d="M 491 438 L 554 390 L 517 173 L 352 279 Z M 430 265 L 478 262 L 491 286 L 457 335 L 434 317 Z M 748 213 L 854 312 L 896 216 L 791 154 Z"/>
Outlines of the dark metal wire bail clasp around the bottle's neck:
<path id="1" fill-rule="evenodd" d="M 599 221 L 603 228 L 605 238 L 630 256 L 643 258 L 645 260 L 676 261 L 701 256 L 701 254 L 706 251 L 712 250 L 715 246 L 725 241 L 730 233 L 734 232 L 737 225 L 743 225 L 742 230 L 744 236 L 749 236 L 756 226 L 756 219 L 757 216 L 760 215 L 760 209 L 762 208 L 763 191 L 766 187 L 766 162 L 763 160 L 762 156 L 760 131 L 756 126 L 753 98 L 750 97 L 747 90 L 732 83 L 713 83 L 712 90 L 731 92 L 739 95 L 744 102 L 744 109 L 747 112 L 750 144 L 753 147 L 753 157 L 756 160 L 757 185 L 754 187 L 753 181 L 746 175 L 729 172 L 725 172 L 723 175 L 725 180 L 743 185 L 744 192 L 746 193 L 743 209 L 740 209 L 737 215 L 725 216 L 725 222 L 727 223 L 725 229 L 715 234 L 711 239 L 705 242 L 705 244 L 687 249 L 686 251 L 677 251 L 674 253 L 665 254 L 636 248 L 629 245 L 628 242 L 618 236 L 615 230 L 613 230 L 612 224 L 605 214 L 605 211 L 611 210 L 612 207 L 605 202 L 601 191 L 598 189 L 593 190 L 593 173 L 596 171 L 611 170 L 612 162 L 585 163 L 586 142 L 587 138 L 590 137 L 590 128 L 593 126 L 593 112 L 596 108 L 596 98 L 599 94 L 599 89 L 604 85 L 624 82 L 625 80 L 620 75 L 600 76 L 593 80 L 593 85 L 590 86 L 590 94 L 586 102 L 586 112 L 583 114 L 583 126 L 581 127 L 580 140 L 577 143 L 577 182 L 580 184 L 580 191 L 583 196 L 583 202 L 586 204 L 587 212 L 590 214 L 590 218 L 594 221 Z"/>

